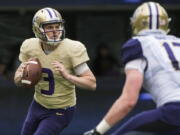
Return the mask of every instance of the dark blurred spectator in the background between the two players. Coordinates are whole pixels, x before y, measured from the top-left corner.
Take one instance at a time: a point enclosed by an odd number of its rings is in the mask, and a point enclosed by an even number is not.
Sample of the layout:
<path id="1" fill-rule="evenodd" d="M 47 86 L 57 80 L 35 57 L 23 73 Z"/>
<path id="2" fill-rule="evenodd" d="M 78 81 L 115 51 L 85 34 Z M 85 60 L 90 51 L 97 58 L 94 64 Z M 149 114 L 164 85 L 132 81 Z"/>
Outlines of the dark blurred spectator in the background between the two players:
<path id="1" fill-rule="evenodd" d="M 92 63 L 92 70 L 96 76 L 119 76 L 120 67 L 109 46 L 101 43 L 96 48 L 96 57 Z"/>

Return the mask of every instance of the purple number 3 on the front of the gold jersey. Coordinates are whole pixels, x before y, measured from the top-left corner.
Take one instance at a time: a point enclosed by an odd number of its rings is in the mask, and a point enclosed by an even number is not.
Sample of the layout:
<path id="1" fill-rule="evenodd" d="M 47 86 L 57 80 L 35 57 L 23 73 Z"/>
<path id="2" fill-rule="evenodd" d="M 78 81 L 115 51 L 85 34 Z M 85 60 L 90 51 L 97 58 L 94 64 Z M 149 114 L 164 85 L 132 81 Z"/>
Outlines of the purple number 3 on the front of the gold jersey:
<path id="1" fill-rule="evenodd" d="M 43 77 L 44 81 L 49 82 L 49 90 L 43 90 L 41 89 L 41 93 L 45 95 L 52 95 L 54 93 L 54 76 L 53 72 L 48 68 L 42 68 L 42 72 L 46 73 L 48 76 Z"/>

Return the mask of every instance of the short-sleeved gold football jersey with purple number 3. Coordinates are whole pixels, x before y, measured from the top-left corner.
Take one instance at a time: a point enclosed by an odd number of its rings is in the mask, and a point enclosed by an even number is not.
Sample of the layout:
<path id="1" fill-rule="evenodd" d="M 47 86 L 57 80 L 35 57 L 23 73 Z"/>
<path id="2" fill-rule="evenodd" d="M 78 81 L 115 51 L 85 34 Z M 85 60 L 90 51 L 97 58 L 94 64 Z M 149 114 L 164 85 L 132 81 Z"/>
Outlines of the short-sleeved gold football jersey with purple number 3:
<path id="1" fill-rule="evenodd" d="M 76 104 L 75 85 L 56 72 L 51 63 L 59 61 L 70 74 L 75 74 L 74 67 L 89 60 L 84 45 L 79 41 L 66 38 L 54 51 L 45 54 L 41 41 L 38 38 L 31 38 L 23 42 L 19 55 L 21 62 L 29 58 L 38 58 L 42 66 L 42 78 L 35 86 L 35 101 L 49 109 L 74 106 Z"/>

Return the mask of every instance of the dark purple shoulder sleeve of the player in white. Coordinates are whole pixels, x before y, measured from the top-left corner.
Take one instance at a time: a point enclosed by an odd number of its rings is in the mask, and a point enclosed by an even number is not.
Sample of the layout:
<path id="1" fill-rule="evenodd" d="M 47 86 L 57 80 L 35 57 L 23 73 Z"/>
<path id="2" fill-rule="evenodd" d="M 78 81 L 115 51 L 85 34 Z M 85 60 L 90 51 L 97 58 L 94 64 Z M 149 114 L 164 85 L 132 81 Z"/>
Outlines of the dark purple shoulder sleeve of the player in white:
<path id="1" fill-rule="evenodd" d="M 143 56 L 143 50 L 141 43 L 138 39 L 128 40 L 122 47 L 122 62 L 125 65 L 129 61 L 145 58 Z"/>

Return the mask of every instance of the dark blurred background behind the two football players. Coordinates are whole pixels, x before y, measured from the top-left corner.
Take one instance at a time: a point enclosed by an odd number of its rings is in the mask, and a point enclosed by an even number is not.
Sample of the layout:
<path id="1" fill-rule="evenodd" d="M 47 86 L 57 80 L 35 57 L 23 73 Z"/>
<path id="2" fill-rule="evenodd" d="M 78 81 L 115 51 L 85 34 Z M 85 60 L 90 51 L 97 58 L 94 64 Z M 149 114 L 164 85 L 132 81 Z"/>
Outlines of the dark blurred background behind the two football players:
<path id="1" fill-rule="evenodd" d="M 44 7 L 60 11 L 65 19 L 66 37 L 87 47 L 88 63 L 97 77 L 97 91 L 77 89 L 77 111 L 62 135 L 80 135 L 93 128 L 121 94 L 124 73 L 121 45 L 131 37 L 130 17 L 145 0 L 1 0 L 0 1 L 0 135 L 20 135 L 33 89 L 17 88 L 13 83 L 19 65 L 21 43 L 34 37 L 32 18 Z M 180 1 L 158 0 L 172 18 L 171 32 L 180 36 Z M 130 115 L 110 130 L 110 134 L 130 116 L 155 107 L 142 91 Z"/>

